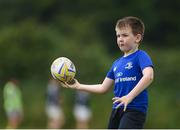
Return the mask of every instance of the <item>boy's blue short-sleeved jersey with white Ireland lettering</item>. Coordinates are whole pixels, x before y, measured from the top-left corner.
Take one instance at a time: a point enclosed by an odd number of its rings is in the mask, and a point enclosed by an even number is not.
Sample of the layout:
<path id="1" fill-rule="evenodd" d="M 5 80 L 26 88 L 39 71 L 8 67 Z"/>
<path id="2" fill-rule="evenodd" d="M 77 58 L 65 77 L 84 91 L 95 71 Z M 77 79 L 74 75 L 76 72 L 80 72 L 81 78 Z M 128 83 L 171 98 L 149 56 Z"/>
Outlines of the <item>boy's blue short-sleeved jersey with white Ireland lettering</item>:
<path id="1" fill-rule="evenodd" d="M 117 59 L 107 77 L 115 81 L 114 96 L 122 97 L 127 95 L 142 78 L 142 71 L 146 67 L 153 67 L 151 58 L 145 51 L 137 50 L 133 54 Z M 113 105 L 113 109 L 117 104 Z M 121 106 L 123 107 L 123 106 Z M 148 94 L 145 89 L 128 104 L 127 108 L 134 108 L 146 113 L 148 107 Z"/>

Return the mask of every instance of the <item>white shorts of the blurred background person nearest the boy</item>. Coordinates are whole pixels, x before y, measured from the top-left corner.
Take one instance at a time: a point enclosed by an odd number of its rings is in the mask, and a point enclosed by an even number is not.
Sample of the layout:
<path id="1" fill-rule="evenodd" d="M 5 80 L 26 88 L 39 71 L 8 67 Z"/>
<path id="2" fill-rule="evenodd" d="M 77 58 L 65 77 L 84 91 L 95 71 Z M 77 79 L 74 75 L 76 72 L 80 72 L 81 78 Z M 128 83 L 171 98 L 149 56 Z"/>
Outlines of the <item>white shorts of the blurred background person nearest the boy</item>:
<path id="1" fill-rule="evenodd" d="M 84 105 L 75 105 L 74 116 L 76 120 L 88 121 L 91 118 L 92 113 L 91 110 Z"/>

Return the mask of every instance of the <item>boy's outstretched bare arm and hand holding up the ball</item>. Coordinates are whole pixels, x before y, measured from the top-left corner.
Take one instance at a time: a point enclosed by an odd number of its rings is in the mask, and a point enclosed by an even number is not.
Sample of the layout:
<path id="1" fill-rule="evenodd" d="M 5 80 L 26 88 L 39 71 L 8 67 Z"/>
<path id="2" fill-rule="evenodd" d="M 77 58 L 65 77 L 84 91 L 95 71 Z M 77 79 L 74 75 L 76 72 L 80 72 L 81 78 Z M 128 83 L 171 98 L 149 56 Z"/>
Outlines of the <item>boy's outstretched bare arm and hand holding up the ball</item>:
<path id="1" fill-rule="evenodd" d="M 65 83 L 66 85 L 65 87 L 75 88 L 78 90 L 83 90 L 93 93 L 105 93 L 111 88 L 113 84 L 114 84 L 114 80 L 106 77 L 102 84 L 94 84 L 94 85 L 80 84 L 77 80 L 75 80 L 75 83 L 72 85 Z"/>

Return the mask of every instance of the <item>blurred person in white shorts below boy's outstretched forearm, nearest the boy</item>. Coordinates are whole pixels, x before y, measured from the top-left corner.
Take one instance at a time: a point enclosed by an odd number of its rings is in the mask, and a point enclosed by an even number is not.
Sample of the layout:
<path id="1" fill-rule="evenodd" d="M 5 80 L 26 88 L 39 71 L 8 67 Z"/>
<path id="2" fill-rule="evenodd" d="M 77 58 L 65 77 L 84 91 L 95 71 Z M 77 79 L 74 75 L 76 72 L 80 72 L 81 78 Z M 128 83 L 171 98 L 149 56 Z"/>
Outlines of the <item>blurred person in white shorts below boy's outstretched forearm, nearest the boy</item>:
<path id="1" fill-rule="evenodd" d="M 77 129 L 88 129 L 92 112 L 89 108 L 89 93 L 76 91 L 74 117 Z"/>

